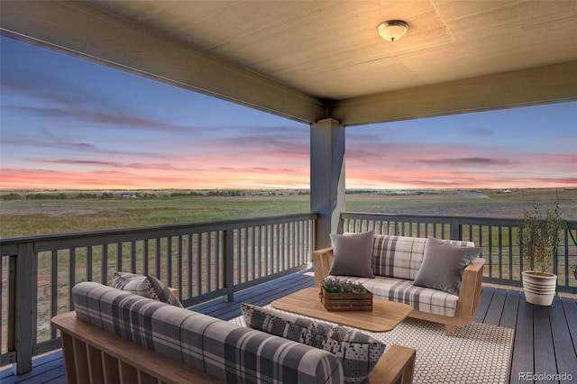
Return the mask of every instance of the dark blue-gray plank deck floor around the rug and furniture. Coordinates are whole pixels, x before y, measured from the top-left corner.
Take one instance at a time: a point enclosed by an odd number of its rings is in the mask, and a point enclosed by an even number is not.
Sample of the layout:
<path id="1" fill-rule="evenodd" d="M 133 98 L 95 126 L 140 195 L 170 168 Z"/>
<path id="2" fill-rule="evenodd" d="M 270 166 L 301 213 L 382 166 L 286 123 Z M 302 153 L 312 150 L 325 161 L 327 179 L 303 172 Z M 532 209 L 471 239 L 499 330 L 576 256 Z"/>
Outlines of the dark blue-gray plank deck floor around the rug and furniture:
<path id="1" fill-rule="evenodd" d="M 240 315 L 241 302 L 259 306 L 270 304 L 301 288 L 314 287 L 310 271 L 276 279 L 256 288 L 237 292 L 234 302 L 217 299 L 193 307 L 194 310 L 230 320 Z M 483 287 L 481 303 L 473 321 L 515 329 L 510 367 L 511 383 L 568 383 L 577 381 L 577 301 L 555 297 L 553 306 L 527 304 L 516 290 Z M 572 381 L 528 380 L 529 374 L 572 375 Z M 61 352 L 52 352 L 33 361 L 31 372 L 14 376 L 11 369 L 0 371 L 0 382 L 65 383 Z M 436 383 L 435 383 L 436 384 Z M 493 384 L 493 383 L 489 383 Z"/>

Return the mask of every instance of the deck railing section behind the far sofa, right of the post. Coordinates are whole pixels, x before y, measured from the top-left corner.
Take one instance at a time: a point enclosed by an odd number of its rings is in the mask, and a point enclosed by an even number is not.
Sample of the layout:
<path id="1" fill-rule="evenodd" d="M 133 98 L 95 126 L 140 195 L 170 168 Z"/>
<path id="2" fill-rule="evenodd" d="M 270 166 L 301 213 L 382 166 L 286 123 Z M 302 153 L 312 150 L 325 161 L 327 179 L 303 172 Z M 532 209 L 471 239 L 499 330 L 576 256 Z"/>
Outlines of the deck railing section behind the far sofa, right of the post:
<path id="1" fill-rule="evenodd" d="M 527 270 L 517 242 L 518 219 L 345 212 L 341 220 L 343 232 L 374 230 L 375 233 L 474 242 L 481 247 L 481 257 L 485 259 L 483 282 L 520 287 L 521 271 Z M 567 223 L 577 238 L 577 221 Z M 577 294 L 577 280 L 572 272 L 572 266 L 577 265 L 577 246 L 569 230 L 563 228 L 553 272 L 558 276 L 558 292 Z"/>

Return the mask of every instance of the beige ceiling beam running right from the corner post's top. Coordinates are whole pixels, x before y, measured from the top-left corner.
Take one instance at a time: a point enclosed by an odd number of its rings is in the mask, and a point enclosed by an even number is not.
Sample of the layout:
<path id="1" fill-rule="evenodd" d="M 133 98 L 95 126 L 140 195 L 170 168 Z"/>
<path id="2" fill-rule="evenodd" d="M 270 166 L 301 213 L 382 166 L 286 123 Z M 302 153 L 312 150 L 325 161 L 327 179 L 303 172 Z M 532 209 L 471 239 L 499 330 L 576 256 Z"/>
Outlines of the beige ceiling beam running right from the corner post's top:
<path id="1" fill-rule="evenodd" d="M 335 101 L 329 114 L 360 125 L 571 100 L 577 61 Z"/>

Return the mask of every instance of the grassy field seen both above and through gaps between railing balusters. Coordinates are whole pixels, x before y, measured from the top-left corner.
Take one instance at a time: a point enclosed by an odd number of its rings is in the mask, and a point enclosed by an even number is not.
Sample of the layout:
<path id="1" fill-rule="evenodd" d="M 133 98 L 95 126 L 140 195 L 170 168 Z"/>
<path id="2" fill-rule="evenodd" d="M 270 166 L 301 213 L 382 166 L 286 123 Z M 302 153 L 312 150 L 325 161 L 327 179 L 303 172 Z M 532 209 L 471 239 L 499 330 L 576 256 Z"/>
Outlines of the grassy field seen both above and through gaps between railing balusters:
<path id="1" fill-rule="evenodd" d="M 523 210 L 539 201 L 545 206 L 553 206 L 557 202 L 561 206 L 563 217 L 577 220 L 577 190 L 565 189 L 528 189 L 499 193 L 495 190 L 483 191 L 441 191 L 419 194 L 417 191 L 408 191 L 407 195 L 398 192 L 362 192 L 346 195 L 347 211 L 405 214 L 405 215 L 454 215 L 496 218 L 520 218 Z M 0 198 L 10 197 L 14 191 L 0 192 Z M 241 196 L 198 196 L 189 193 L 172 191 L 156 191 L 155 197 L 144 197 L 147 193 L 141 191 L 136 198 L 122 198 L 121 192 L 114 192 L 112 198 L 78 198 L 80 191 L 52 191 L 42 192 L 50 198 L 26 198 L 33 192 L 18 192 L 20 198 L 2 198 L 0 200 L 0 237 L 12 238 L 50 233 L 80 233 L 105 229 L 133 228 L 161 224 L 184 224 L 193 222 L 211 222 L 230 220 L 235 218 L 255 218 L 270 215 L 298 214 L 310 211 L 310 197 L 298 191 L 261 191 L 243 192 Z M 102 191 L 96 193 L 101 196 Z M 238 194 L 236 194 L 238 195 Z M 489 233 L 482 233 L 484 244 L 488 244 Z M 497 234 L 493 233 L 492 237 Z M 477 236 L 481 236 L 478 234 Z M 479 243 L 479 239 L 474 239 Z M 500 243 L 504 253 L 490 258 L 487 262 L 486 273 L 501 271 L 503 277 L 519 279 L 518 255 L 508 255 L 508 237 L 494 238 L 493 243 Z M 124 244 L 125 245 L 125 244 Z M 142 261 L 142 244 L 134 253 L 137 261 Z M 166 245 L 162 245 L 166 246 Z M 490 250 L 483 249 L 484 254 Z M 183 249 L 186 249 L 184 247 Z M 85 279 L 88 264 L 93 266 L 94 278 L 100 276 L 100 258 L 102 247 L 91 249 L 94 256 L 91 262 L 87 260 L 87 248 L 80 247 L 74 250 L 75 281 Z M 154 250 L 149 250 L 154 254 Z M 162 251 L 164 254 L 164 251 Z M 498 255 L 498 252 L 494 252 Z M 509 270 L 509 256 L 512 258 L 513 270 Z M 58 257 L 58 311 L 68 308 L 68 284 L 70 269 L 69 251 L 59 251 Z M 112 276 L 115 270 L 115 248 L 108 254 Z M 574 254 L 571 256 L 572 265 Z M 186 259 L 185 259 L 186 260 Z M 50 321 L 50 252 L 39 255 L 38 265 L 38 340 L 50 338 L 47 324 Z M 129 270 L 130 258 L 123 259 L 123 270 Z M 213 261 L 214 262 L 214 261 Z M 139 264 L 140 265 L 140 264 Z M 212 265 L 212 264 L 211 264 Z M 517 267 L 516 267 L 517 266 Z M 164 268 L 164 264 L 162 268 Z M 563 266 L 561 266 L 563 267 Z M 175 267 L 176 268 L 176 267 Z M 215 269 L 213 269 L 215 270 Z M 7 280 L 7 270 L 3 279 Z M 561 268 L 560 279 L 563 279 Z M 165 276 L 165 270 L 162 271 Z M 497 276 L 493 276 L 497 277 Z M 4 283 L 5 284 L 5 283 Z M 574 280 L 570 284 L 574 286 Z M 3 300 L 5 300 L 3 296 Z M 3 303 L 5 307 L 5 303 Z M 5 332 L 5 313 L 2 314 L 3 332 Z M 5 335 L 3 340 L 5 340 Z M 3 346 L 4 348 L 4 346 Z"/>

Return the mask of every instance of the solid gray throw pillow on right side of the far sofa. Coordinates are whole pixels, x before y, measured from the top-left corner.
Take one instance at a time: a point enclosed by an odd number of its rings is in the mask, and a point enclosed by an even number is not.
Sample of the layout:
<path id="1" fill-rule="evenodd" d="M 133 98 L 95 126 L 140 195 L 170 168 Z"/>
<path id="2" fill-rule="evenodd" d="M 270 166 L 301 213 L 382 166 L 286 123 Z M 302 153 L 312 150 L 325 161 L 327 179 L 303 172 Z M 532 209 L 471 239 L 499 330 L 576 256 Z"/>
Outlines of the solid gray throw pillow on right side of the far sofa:
<path id="1" fill-rule="evenodd" d="M 421 268 L 413 284 L 444 290 L 459 296 L 465 268 L 481 254 L 481 248 L 464 247 L 429 237 Z"/>

